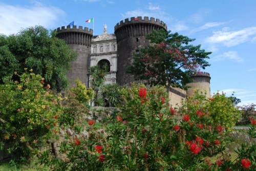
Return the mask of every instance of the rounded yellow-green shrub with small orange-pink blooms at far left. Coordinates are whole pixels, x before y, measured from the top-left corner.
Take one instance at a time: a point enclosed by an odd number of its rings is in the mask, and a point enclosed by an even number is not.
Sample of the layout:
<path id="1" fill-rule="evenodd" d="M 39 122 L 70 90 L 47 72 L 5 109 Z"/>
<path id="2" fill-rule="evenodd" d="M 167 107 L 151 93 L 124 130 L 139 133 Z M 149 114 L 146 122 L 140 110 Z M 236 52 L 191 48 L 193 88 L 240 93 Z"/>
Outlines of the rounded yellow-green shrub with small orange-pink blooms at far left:
<path id="1" fill-rule="evenodd" d="M 19 160 L 29 159 L 32 151 L 37 153 L 56 131 L 62 108 L 61 98 L 40 75 L 17 76 L 20 82 L 8 80 L 0 85 L 0 148 L 7 147 L 11 157 Z"/>

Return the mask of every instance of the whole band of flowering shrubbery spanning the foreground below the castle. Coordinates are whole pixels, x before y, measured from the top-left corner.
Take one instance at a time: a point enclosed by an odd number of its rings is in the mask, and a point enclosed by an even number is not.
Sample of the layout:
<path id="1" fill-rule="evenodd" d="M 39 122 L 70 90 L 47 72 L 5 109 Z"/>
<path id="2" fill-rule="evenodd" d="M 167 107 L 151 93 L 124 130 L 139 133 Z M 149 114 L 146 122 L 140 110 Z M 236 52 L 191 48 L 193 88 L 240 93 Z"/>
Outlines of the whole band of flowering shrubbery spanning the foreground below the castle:
<path id="1" fill-rule="evenodd" d="M 77 83 L 65 98 L 56 96 L 33 73 L 2 85 L 1 148 L 7 146 L 16 159 L 29 161 L 36 154 L 53 170 L 253 170 L 255 166 L 253 143 L 243 143 L 234 161 L 225 152 L 225 131 L 237 110 L 223 94 L 206 99 L 196 93 L 175 109 L 169 106 L 164 87 L 147 90 L 143 84 L 132 84 L 119 90 L 121 112 L 98 122 L 84 119 L 92 94 Z M 255 119 L 251 123 L 252 141 Z M 46 142 L 59 140 L 61 130 L 67 133 L 51 155 Z M 211 157 L 218 159 L 212 162 Z"/>

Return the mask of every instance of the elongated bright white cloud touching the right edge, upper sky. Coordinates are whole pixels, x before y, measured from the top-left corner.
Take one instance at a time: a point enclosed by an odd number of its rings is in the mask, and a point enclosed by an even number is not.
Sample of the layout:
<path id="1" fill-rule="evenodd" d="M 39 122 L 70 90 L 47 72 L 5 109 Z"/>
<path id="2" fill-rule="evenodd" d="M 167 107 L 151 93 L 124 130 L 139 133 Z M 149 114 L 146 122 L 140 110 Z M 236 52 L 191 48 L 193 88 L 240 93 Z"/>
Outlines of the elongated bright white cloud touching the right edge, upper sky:
<path id="1" fill-rule="evenodd" d="M 210 44 L 223 44 L 226 47 L 232 47 L 252 40 L 256 35 L 256 27 L 248 27 L 238 31 L 229 31 L 224 28 L 221 31 L 214 32 L 214 35 L 206 39 Z"/>

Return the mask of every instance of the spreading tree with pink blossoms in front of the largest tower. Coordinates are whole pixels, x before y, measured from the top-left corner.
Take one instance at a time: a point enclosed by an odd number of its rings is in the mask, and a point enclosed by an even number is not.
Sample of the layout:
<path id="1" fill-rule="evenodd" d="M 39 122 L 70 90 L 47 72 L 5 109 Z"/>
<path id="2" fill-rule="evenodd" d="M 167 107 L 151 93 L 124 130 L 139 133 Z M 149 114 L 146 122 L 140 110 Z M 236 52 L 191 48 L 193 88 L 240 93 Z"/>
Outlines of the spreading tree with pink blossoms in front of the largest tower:
<path id="1" fill-rule="evenodd" d="M 160 84 L 167 91 L 171 86 L 186 89 L 190 74 L 210 66 L 205 59 L 211 52 L 200 49 L 200 45 L 189 45 L 195 39 L 165 30 L 153 31 L 146 38 L 152 46 L 141 49 L 127 69 L 137 80 L 147 80 L 151 86 Z"/>

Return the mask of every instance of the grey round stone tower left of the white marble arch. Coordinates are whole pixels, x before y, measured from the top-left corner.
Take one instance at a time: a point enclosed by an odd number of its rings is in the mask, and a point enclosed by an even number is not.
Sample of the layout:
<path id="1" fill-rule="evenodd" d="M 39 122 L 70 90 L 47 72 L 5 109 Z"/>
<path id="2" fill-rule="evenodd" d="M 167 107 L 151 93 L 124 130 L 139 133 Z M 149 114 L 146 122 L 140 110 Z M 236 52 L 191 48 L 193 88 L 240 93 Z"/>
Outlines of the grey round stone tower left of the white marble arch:
<path id="1" fill-rule="evenodd" d="M 72 69 L 68 72 L 67 76 L 74 87 L 75 80 L 79 78 L 82 83 L 88 85 L 88 68 L 90 66 L 91 55 L 91 41 L 93 38 L 93 30 L 84 29 L 82 26 L 76 28 L 73 26 L 62 26 L 57 28 L 57 37 L 64 39 L 67 44 L 78 53 L 78 58 L 72 62 Z"/>

